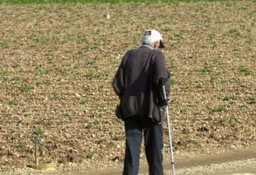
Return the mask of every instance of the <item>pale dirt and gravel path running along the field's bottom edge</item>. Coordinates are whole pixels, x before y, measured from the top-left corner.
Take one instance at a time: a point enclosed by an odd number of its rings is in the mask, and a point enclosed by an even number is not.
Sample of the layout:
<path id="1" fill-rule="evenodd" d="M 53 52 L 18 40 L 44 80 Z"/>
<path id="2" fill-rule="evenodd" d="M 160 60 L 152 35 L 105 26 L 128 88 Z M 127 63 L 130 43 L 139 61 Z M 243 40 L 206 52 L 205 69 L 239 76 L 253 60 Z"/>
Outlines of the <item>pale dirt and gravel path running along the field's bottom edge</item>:
<path id="1" fill-rule="evenodd" d="M 180 175 L 251 175 L 256 174 L 256 149 L 234 149 L 220 154 L 196 155 L 193 157 L 175 157 L 176 174 Z M 55 171 L 36 171 L 22 168 L 5 171 L 4 175 L 36 174 L 36 175 L 117 175 L 122 174 L 122 165 L 110 166 L 108 169 L 97 166 L 97 169 L 88 171 L 86 164 L 78 166 L 58 166 Z M 1 172 L 0 172 L 1 174 Z M 148 175 L 148 166 L 142 163 L 139 175 Z M 170 162 L 164 162 L 164 175 L 171 175 Z"/>

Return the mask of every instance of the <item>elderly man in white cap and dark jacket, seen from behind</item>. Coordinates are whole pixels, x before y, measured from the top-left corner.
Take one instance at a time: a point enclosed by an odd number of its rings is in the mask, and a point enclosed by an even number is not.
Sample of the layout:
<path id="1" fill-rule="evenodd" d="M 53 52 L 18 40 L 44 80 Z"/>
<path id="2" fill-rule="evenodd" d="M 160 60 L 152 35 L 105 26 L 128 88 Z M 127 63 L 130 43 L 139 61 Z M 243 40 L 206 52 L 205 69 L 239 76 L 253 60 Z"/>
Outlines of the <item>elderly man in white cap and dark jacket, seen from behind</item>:
<path id="1" fill-rule="evenodd" d="M 117 117 L 124 120 L 126 149 L 123 174 L 139 172 L 139 150 L 144 134 L 149 174 L 163 174 L 162 123 L 164 101 L 159 81 L 164 80 L 166 94 L 170 91 L 169 72 L 166 69 L 163 38 L 156 30 L 146 30 L 142 46 L 129 50 L 123 57 L 112 86 L 119 96 Z"/>

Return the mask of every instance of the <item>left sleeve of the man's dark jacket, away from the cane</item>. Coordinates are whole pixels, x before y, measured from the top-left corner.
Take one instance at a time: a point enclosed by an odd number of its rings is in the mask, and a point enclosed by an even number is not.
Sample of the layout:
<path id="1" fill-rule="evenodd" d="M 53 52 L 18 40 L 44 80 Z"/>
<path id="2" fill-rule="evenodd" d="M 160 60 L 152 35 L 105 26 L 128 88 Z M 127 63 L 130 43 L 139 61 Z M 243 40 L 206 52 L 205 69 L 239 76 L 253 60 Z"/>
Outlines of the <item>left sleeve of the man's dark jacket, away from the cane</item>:
<path id="1" fill-rule="evenodd" d="M 124 94 L 124 71 L 125 71 L 124 62 L 126 62 L 127 57 L 128 57 L 128 52 L 127 54 L 124 55 L 122 62 L 117 69 L 117 73 L 115 74 L 114 79 L 112 81 L 114 92 L 115 94 L 117 94 L 117 96 L 119 96 L 120 99 Z"/>

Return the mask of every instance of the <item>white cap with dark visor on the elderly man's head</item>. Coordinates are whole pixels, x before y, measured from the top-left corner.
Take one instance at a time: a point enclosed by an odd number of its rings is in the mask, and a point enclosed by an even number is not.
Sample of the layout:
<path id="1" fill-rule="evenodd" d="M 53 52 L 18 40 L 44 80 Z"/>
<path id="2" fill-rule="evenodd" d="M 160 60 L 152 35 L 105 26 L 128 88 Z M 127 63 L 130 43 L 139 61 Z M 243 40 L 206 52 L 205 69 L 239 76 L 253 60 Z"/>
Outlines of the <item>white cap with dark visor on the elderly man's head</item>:
<path id="1" fill-rule="evenodd" d="M 151 29 L 146 30 L 146 32 L 142 36 L 142 44 L 152 45 L 155 42 L 160 41 L 159 48 L 164 48 L 163 38 L 159 31 Z"/>

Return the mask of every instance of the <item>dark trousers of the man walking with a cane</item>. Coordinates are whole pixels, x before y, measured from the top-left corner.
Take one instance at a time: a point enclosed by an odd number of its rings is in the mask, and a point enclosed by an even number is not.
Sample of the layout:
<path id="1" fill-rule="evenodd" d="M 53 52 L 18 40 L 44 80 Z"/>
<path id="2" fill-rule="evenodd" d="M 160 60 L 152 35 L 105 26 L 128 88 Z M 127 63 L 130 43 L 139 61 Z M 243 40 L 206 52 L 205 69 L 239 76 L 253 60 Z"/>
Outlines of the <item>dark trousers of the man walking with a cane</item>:
<path id="1" fill-rule="evenodd" d="M 163 174 L 164 147 L 162 126 L 154 125 L 146 115 L 139 115 L 124 121 L 126 148 L 123 175 L 137 175 L 139 173 L 139 150 L 144 133 L 146 160 L 149 164 L 149 175 Z"/>

